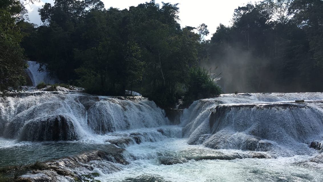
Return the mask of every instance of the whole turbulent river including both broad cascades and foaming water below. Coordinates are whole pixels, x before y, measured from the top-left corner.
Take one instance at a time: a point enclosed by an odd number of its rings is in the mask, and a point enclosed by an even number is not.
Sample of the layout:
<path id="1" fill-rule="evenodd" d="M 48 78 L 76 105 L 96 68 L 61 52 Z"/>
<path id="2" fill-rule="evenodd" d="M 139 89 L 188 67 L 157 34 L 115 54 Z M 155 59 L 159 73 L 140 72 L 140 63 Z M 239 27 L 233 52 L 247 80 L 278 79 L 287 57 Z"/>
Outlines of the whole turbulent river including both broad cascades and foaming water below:
<path id="1" fill-rule="evenodd" d="M 170 121 L 141 96 L 12 93 L 0 102 L 0 167 L 51 166 L 22 174 L 29 181 L 323 181 L 322 100 L 223 94 Z"/>

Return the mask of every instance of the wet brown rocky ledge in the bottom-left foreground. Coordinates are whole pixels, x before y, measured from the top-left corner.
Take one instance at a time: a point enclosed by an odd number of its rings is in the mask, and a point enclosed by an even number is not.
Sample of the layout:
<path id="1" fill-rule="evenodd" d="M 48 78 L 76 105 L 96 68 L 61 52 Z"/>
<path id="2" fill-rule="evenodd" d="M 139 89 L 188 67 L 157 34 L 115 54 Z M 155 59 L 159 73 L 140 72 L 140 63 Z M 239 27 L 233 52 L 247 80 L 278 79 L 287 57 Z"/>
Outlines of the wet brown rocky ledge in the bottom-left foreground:
<path id="1" fill-rule="evenodd" d="M 72 157 L 63 157 L 46 161 L 38 164 L 36 167 L 33 167 L 35 165 L 31 165 L 30 167 L 26 166 L 26 174 L 17 178 L 16 181 L 56 182 L 62 178 L 80 179 L 80 176 L 74 173 L 74 168 L 85 168 L 92 171 L 94 167 L 104 167 L 105 169 L 110 168 L 112 170 L 110 172 L 120 171 L 121 169 L 113 163 L 122 165 L 129 164 L 122 156 L 123 151 L 124 149 L 122 148 L 110 145 L 107 151 L 94 150 L 82 152 L 81 154 Z M 111 163 L 105 162 L 105 166 L 87 165 L 91 161 L 109 161 Z M 8 173 L 10 175 L 10 171 Z"/>

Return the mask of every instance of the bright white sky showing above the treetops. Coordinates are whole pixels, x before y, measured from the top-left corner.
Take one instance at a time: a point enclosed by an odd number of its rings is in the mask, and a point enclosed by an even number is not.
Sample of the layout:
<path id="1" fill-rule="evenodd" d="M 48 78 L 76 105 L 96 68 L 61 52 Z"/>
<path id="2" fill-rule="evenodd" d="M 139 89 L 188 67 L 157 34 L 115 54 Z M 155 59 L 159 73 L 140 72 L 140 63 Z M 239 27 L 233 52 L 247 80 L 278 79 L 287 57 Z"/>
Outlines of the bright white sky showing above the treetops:
<path id="1" fill-rule="evenodd" d="M 145 3 L 150 0 L 101 1 L 104 3 L 106 8 L 112 6 L 119 9 L 128 9 L 130 6 L 137 6 L 138 4 Z M 155 2 L 161 4 L 162 1 L 156 0 Z M 171 4 L 179 3 L 179 23 L 182 27 L 197 27 L 200 24 L 205 23 L 210 32 L 206 39 L 210 39 L 212 34 L 215 33 L 216 27 L 218 27 L 220 23 L 226 26 L 231 25 L 234 9 L 238 6 L 247 4 L 250 0 L 163 0 L 163 2 Z M 35 3 L 34 5 L 27 5 L 27 9 L 29 11 L 28 16 L 31 23 L 41 25 L 37 10 L 45 3 L 51 3 L 54 5 L 54 0 L 41 0 L 39 3 Z"/>

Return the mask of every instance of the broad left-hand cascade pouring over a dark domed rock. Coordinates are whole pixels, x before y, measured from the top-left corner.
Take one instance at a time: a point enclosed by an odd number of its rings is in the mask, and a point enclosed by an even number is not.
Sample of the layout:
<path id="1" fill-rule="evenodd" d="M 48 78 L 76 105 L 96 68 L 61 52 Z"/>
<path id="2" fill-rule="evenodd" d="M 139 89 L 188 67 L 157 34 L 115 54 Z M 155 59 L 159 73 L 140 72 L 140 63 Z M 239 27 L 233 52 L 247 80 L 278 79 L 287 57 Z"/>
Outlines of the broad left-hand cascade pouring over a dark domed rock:
<path id="1" fill-rule="evenodd" d="M 141 96 L 129 99 L 62 91 L 18 93 L 0 102 L 0 136 L 20 141 L 78 140 L 169 123 L 154 102 Z"/>

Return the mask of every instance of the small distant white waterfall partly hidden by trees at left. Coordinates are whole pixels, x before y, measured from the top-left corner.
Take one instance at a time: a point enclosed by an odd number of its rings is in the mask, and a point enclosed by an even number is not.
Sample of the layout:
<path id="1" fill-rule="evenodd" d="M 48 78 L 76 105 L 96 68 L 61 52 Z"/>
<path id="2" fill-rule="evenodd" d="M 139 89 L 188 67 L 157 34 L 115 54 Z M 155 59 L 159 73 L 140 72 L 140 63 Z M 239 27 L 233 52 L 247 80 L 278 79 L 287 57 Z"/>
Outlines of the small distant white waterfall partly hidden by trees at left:
<path id="1" fill-rule="evenodd" d="M 26 69 L 27 75 L 30 77 L 32 82 L 32 86 L 36 86 L 40 82 L 45 82 L 48 84 L 55 84 L 59 83 L 57 78 L 52 78 L 49 76 L 48 72 L 46 71 L 38 71 L 39 63 L 36 61 L 27 61 L 28 68 Z M 42 67 L 45 70 L 45 66 Z"/>

